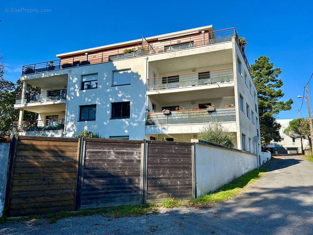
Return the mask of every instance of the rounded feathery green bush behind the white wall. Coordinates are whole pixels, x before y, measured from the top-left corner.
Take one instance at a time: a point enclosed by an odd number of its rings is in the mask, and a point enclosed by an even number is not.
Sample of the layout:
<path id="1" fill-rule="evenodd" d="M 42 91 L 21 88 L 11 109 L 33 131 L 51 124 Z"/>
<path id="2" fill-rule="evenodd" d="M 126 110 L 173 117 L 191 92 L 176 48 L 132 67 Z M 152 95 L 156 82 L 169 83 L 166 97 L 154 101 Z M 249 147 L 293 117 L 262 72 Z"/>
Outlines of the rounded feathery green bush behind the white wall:
<path id="1" fill-rule="evenodd" d="M 214 144 L 221 144 L 230 148 L 234 147 L 232 141 L 233 134 L 228 132 L 228 129 L 224 128 L 220 123 L 211 123 L 202 128 L 198 133 L 198 138 L 204 141 L 208 141 Z"/>

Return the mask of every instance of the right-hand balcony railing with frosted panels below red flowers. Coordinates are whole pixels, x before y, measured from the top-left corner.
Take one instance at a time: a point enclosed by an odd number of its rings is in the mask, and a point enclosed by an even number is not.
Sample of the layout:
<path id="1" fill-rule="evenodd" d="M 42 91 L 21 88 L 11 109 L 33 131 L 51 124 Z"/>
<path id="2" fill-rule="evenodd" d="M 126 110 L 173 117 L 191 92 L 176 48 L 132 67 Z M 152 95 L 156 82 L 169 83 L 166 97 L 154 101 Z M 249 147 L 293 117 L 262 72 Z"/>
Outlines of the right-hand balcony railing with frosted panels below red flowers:
<path id="1" fill-rule="evenodd" d="M 215 112 L 207 109 L 171 111 L 165 115 L 163 112 L 148 112 L 146 125 L 190 124 L 209 122 L 236 121 L 235 107 L 216 108 Z"/>

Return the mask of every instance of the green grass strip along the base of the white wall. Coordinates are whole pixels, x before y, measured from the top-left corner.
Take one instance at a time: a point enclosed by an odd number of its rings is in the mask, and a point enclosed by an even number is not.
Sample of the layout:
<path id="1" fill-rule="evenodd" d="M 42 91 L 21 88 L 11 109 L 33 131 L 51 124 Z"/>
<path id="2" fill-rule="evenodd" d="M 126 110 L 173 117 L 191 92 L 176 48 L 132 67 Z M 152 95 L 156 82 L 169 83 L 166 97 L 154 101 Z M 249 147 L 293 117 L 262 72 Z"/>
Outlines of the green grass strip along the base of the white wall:
<path id="1" fill-rule="evenodd" d="M 219 188 L 218 190 L 207 193 L 203 196 L 200 196 L 196 199 L 190 199 L 190 203 L 210 203 L 210 202 L 219 202 L 226 199 L 229 199 L 238 194 L 246 185 L 252 183 L 258 179 L 266 171 L 265 168 L 260 168 L 259 170 L 251 170 L 247 174 L 240 176 L 239 178 L 233 180 L 227 185 Z"/>

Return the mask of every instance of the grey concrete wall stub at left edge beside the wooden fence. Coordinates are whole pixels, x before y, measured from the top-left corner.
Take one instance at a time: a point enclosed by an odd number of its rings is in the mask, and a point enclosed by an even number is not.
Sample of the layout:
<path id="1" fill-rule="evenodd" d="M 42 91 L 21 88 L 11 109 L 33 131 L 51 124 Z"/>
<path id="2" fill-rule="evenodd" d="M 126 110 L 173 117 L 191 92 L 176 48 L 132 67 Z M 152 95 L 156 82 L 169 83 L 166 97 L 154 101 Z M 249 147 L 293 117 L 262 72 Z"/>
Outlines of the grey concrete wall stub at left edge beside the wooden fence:
<path id="1" fill-rule="evenodd" d="M 0 217 L 4 208 L 10 143 L 0 143 Z"/>

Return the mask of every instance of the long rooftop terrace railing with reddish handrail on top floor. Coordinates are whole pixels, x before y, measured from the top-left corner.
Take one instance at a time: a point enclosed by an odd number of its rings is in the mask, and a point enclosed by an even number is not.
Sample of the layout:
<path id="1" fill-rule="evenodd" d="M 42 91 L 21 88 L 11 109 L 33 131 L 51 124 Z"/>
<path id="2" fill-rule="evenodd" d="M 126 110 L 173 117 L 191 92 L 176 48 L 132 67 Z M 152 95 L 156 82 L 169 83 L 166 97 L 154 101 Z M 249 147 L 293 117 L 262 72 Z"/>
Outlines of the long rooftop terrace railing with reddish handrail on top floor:
<path id="1" fill-rule="evenodd" d="M 231 41 L 232 37 L 235 37 L 236 35 L 237 33 L 235 28 L 229 28 L 213 32 L 205 32 L 203 34 L 199 33 L 191 36 L 157 41 L 148 44 L 133 45 L 125 48 L 106 50 L 103 52 L 90 52 L 88 55 L 85 55 L 84 53 L 82 55 L 61 60 L 52 60 L 32 65 L 24 65 L 22 75 L 76 67 L 81 65 L 89 65 L 94 63 L 103 63 L 113 60 L 121 60 L 141 55 L 151 55 L 174 50 L 182 50 L 197 46 L 211 45 Z M 238 38 L 238 36 L 236 37 Z"/>

